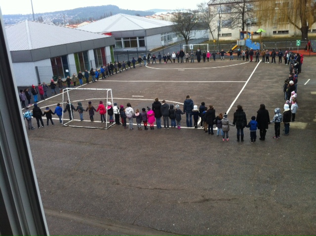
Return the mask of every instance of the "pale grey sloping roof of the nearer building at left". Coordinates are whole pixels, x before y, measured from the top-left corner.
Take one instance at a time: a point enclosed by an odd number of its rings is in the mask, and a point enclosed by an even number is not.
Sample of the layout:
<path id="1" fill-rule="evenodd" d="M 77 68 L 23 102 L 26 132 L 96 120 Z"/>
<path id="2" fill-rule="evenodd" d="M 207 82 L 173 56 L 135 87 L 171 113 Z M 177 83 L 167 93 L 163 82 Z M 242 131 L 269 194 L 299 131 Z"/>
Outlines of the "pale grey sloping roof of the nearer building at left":
<path id="1" fill-rule="evenodd" d="M 32 50 L 110 37 L 28 20 L 6 27 L 5 32 L 10 51 Z"/>

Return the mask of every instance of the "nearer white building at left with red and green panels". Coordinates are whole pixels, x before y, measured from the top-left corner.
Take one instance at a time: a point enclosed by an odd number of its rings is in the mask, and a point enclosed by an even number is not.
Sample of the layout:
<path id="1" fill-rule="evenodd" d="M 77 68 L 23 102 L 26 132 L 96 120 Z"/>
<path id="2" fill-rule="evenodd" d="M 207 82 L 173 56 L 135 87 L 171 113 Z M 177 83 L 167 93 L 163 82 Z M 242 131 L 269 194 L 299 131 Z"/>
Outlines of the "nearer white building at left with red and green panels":
<path id="1" fill-rule="evenodd" d="M 114 37 L 34 21 L 5 28 L 18 86 L 99 68 L 111 61 Z"/>

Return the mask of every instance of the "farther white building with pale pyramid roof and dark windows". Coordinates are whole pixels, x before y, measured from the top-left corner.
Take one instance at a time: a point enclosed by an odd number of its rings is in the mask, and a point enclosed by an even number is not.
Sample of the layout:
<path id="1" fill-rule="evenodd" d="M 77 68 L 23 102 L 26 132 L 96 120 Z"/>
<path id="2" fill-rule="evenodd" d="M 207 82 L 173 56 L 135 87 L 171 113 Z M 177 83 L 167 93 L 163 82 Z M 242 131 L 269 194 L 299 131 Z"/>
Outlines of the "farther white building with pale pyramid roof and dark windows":
<path id="1" fill-rule="evenodd" d="M 172 22 L 117 14 L 78 29 L 115 37 L 114 51 L 147 51 L 178 40 Z"/>

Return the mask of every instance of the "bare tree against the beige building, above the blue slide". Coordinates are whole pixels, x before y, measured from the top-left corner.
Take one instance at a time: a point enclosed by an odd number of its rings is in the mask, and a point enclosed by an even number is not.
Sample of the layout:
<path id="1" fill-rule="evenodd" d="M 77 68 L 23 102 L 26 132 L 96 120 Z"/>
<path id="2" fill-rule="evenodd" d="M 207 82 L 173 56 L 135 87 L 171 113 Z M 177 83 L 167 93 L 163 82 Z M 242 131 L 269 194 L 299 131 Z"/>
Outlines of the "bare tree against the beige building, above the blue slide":
<path id="1" fill-rule="evenodd" d="M 253 19 L 253 0 L 238 0 L 226 6 L 225 10 L 228 11 L 228 19 L 231 23 L 228 28 L 240 28 L 244 31 L 247 22 Z"/>

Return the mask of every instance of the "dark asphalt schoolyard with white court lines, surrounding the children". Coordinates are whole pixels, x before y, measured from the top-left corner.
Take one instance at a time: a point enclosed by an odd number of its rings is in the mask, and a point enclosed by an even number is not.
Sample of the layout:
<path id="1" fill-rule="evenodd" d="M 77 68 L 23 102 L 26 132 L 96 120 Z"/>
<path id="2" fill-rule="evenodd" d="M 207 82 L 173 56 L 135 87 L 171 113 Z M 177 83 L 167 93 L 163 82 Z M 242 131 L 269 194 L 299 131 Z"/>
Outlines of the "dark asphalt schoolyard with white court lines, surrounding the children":
<path id="1" fill-rule="evenodd" d="M 157 60 L 158 61 L 158 60 Z M 212 104 L 249 121 L 261 103 L 283 111 L 288 66 L 216 60 L 136 66 L 83 85 L 111 88 L 134 110 L 155 98 Z M 51 236 L 316 236 L 316 69 L 305 57 L 289 136 L 237 142 L 201 128 L 137 130 L 58 124 L 27 130 Z M 84 95 L 82 105 L 93 94 Z M 40 102 L 52 110 L 62 95 Z M 95 117 L 99 115 L 96 114 Z M 55 116 L 57 118 L 57 116 Z M 86 121 L 84 121 L 86 122 Z M 36 121 L 33 119 L 33 125 Z M 36 127 L 36 125 L 35 125 Z M 281 126 L 283 128 L 283 125 Z M 259 136 L 259 131 L 257 131 Z"/>

